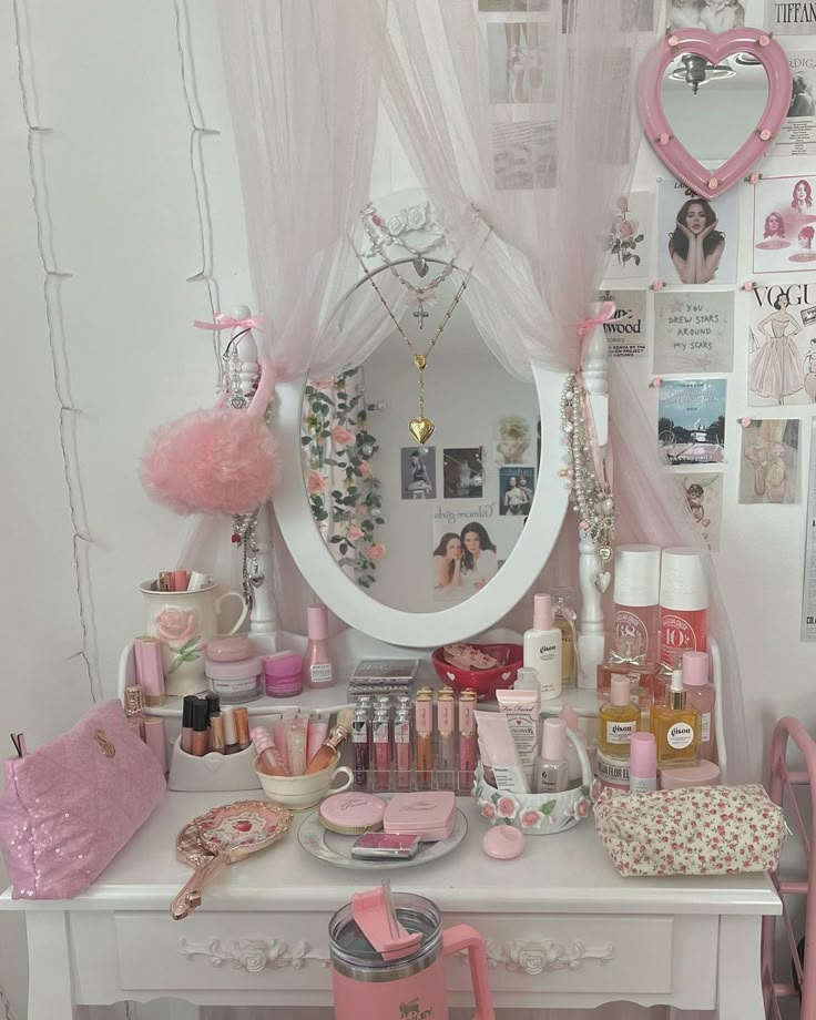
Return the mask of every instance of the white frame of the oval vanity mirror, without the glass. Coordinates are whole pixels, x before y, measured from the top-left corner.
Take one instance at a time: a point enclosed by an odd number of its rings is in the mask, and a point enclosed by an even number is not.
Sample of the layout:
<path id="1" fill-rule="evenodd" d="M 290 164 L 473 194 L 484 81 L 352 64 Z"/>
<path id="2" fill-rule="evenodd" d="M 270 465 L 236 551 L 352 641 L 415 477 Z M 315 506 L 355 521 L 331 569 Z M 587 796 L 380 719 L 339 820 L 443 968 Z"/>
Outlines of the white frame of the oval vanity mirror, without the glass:
<path id="1" fill-rule="evenodd" d="M 536 366 L 532 375 L 539 398 L 542 443 L 527 524 L 504 565 L 481 591 L 432 613 L 409 613 L 382 605 L 337 565 L 312 516 L 303 477 L 300 429 L 306 379 L 278 384 L 273 429 L 280 445 L 283 475 L 275 490 L 275 513 L 298 570 L 317 596 L 349 626 L 389 644 L 436 647 L 493 626 L 534 583 L 567 512 L 568 491 L 560 475 L 564 467 L 561 392 L 567 375 Z M 408 438 L 406 430 L 406 441 Z"/>

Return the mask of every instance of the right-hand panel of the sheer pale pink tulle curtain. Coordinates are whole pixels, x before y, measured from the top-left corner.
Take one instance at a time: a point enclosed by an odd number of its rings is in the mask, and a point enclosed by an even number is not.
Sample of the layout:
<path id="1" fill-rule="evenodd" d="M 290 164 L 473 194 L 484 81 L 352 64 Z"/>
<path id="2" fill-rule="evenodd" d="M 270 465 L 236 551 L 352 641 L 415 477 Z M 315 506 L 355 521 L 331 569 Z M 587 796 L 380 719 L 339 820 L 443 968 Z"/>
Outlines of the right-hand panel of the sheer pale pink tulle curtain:
<path id="1" fill-rule="evenodd" d="M 486 344 L 522 379 L 533 361 L 578 369 L 578 326 L 592 314 L 603 238 L 642 135 L 634 88 L 653 42 L 641 27 L 653 24 L 655 4 L 521 0 L 501 19 L 480 14 L 472 0 L 379 7 L 387 22 L 384 99 L 415 172 L 449 218 L 472 203 L 492 227 L 467 294 Z M 620 536 L 698 545 L 723 652 L 730 777 L 742 778 L 748 761 L 738 666 L 711 557 L 687 527 L 654 427 L 622 373 L 611 374 L 610 389 Z M 569 560 L 564 543 L 574 562 L 574 542 L 565 528 L 551 564 Z"/>

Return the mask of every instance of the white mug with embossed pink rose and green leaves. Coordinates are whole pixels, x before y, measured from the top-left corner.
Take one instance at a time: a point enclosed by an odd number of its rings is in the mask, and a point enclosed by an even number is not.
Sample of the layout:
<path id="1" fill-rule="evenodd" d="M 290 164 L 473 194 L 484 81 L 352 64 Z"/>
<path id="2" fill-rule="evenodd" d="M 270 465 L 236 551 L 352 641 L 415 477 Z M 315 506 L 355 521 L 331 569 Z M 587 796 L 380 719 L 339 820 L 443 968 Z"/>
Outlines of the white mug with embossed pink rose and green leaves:
<path id="1" fill-rule="evenodd" d="M 218 594 L 220 585 L 207 584 L 198 591 L 155 591 L 154 581 L 140 585 L 144 599 L 145 634 L 162 641 L 164 688 L 167 694 L 184 695 L 205 691 L 204 652 L 207 641 L 223 633 L 218 630 L 221 605 L 227 599 L 241 602 L 234 634 L 244 623 L 249 606 L 239 591 Z"/>

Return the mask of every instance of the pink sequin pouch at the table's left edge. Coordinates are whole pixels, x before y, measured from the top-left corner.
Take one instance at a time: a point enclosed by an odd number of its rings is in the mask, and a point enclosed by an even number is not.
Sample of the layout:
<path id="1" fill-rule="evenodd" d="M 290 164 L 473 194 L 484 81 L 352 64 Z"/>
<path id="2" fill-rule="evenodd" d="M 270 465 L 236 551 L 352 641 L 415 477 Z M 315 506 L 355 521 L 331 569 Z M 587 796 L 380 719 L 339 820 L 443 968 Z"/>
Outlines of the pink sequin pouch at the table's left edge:
<path id="1" fill-rule="evenodd" d="M 14 899 L 70 899 L 100 875 L 164 790 L 153 752 L 119 701 L 67 734 L 6 762 L 0 849 Z"/>

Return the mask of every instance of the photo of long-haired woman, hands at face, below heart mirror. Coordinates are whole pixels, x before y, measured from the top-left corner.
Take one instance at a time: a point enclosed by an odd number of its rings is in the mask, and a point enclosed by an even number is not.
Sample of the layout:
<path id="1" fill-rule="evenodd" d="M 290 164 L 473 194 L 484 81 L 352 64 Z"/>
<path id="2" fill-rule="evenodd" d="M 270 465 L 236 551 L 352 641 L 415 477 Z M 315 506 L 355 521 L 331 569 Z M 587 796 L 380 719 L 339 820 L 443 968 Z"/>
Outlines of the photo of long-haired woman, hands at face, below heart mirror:
<path id="1" fill-rule="evenodd" d="M 735 283 L 736 193 L 710 202 L 669 178 L 660 182 L 659 195 L 661 278 L 686 287 Z"/>

